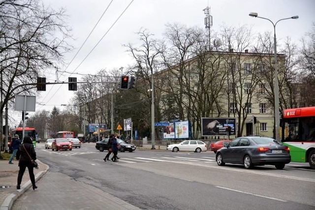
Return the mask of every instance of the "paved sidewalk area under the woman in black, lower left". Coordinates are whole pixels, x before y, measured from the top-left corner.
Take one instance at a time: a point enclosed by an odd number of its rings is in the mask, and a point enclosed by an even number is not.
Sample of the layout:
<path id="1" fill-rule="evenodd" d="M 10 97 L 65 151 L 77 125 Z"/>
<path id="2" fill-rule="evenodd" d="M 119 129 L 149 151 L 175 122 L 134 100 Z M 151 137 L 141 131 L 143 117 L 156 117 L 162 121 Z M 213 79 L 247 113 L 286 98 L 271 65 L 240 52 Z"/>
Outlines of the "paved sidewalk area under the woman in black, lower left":
<path id="1" fill-rule="evenodd" d="M 95 144 L 92 145 L 95 146 Z M 32 190 L 32 183 L 26 170 L 21 189 L 17 190 L 18 161 L 15 160 L 13 163 L 8 164 L 7 160 L 0 160 L 0 210 L 10 210 L 13 203 L 14 209 L 20 210 L 42 210 L 43 208 L 45 210 L 140 210 L 89 184 L 72 180 L 59 172 L 50 172 L 49 166 L 42 162 L 38 162 L 40 165 L 38 170 L 34 169 L 38 189 Z M 63 186 L 63 190 L 60 186 Z M 28 201 L 36 202 L 17 200 L 24 193 Z M 95 201 L 86 195 L 95 195 Z"/>

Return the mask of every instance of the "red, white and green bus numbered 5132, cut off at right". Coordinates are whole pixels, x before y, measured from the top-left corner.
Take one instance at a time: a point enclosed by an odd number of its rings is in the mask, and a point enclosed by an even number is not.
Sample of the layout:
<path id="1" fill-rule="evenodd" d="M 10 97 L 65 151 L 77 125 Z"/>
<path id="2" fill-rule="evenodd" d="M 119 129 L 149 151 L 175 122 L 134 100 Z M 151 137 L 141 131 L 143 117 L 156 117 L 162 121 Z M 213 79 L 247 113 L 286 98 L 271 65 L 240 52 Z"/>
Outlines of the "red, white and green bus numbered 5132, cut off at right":
<path id="1" fill-rule="evenodd" d="M 290 149 L 292 162 L 309 162 L 315 169 L 315 107 L 285 109 L 282 142 Z"/>

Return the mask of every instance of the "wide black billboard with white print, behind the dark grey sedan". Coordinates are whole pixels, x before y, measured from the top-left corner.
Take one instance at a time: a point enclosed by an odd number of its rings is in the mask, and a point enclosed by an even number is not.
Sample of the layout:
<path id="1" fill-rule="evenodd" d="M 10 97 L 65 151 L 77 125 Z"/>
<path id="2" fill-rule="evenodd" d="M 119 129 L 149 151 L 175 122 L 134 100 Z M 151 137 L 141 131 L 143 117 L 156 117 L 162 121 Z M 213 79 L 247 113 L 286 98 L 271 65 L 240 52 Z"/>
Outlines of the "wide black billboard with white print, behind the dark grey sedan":
<path id="1" fill-rule="evenodd" d="M 235 118 L 201 118 L 201 136 L 227 135 L 225 128 L 231 127 L 230 135 L 236 134 Z"/>

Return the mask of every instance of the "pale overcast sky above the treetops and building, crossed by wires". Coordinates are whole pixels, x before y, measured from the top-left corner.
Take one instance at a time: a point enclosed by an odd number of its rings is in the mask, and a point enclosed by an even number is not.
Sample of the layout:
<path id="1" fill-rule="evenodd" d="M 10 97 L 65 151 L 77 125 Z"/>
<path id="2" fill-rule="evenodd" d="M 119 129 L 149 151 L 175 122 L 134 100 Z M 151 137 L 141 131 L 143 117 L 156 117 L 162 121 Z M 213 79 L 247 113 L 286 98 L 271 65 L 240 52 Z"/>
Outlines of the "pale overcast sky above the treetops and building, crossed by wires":
<path id="1" fill-rule="evenodd" d="M 111 0 L 43 0 L 43 2 L 52 8 L 63 7 L 66 10 L 68 15 L 66 22 L 71 27 L 74 38 L 70 44 L 75 48 L 73 52 L 65 56 L 65 61 L 69 63 Z M 130 2 L 131 4 L 126 9 Z M 286 36 L 290 36 L 298 44 L 301 37 L 311 30 L 312 22 L 315 22 L 315 0 L 113 0 L 93 34 L 66 71 L 74 72 L 71 77 L 77 77 L 80 80 L 81 76 L 75 73 L 95 74 L 100 69 L 127 67 L 134 61 L 122 45 L 136 44 L 138 39 L 135 32 L 138 32 L 140 28 L 149 30 L 156 35 L 156 38 L 162 37 L 167 23 L 181 23 L 188 27 L 204 28 L 203 9 L 207 6 L 211 7 L 213 16 L 211 30 L 219 30 L 224 24 L 228 27 L 252 26 L 254 32 L 273 31 L 273 26 L 269 21 L 252 18 L 249 13 L 257 12 L 259 16 L 273 22 L 298 15 L 297 20 L 284 20 L 277 25 L 279 44 Z M 121 14 L 122 16 L 118 19 Z M 109 30 L 117 19 L 116 24 Z M 104 36 L 107 31 L 108 33 Z M 104 38 L 95 47 L 103 36 Z M 79 66 L 94 47 L 94 51 Z M 60 68 L 64 70 L 65 67 Z M 59 79 L 67 81 L 69 76 L 65 74 Z M 56 75 L 46 75 L 46 77 L 47 82 L 56 80 Z M 67 85 L 47 86 L 46 91 L 41 92 L 41 97 L 36 98 L 37 103 L 46 105 L 37 104 L 36 111 L 42 109 L 51 111 L 54 105 L 63 109 L 61 104 L 68 104 L 73 95 L 73 91 L 67 89 Z"/>

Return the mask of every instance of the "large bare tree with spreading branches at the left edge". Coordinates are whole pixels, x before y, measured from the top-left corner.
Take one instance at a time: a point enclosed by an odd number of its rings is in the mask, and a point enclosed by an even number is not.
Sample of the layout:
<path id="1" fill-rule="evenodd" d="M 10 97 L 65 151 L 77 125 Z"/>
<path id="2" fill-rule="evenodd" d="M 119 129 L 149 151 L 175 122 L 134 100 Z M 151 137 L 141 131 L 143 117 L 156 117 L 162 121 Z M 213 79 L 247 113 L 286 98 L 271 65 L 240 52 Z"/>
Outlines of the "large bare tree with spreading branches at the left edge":
<path id="1" fill-rule="evenodd" d="M 53 61 L 62 62 L 70 49 L 63 17 L 63 10 L 46 8 L 39 0 L 0 0 L 0 113 L 5 104 L 13 106 L 16 94 L 36 94 L 36 78 Z"/>

